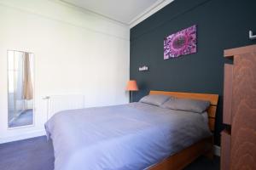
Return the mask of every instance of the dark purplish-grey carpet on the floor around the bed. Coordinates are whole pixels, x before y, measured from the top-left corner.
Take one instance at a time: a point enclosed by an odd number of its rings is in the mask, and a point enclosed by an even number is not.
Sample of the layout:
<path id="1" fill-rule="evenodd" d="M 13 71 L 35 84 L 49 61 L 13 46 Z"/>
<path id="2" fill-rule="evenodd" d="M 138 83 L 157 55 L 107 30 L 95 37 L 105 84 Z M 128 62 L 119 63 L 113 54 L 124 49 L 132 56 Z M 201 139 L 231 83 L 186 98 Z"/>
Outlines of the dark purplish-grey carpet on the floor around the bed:
<path id="1" fill-rule="evenodd" d="M 0 170 L 53 170 L 52 143 L 46 137 L 0 144 Z M 219 158 L 208 160 L 201 156 L 185 170 L 218 170 Z"/>

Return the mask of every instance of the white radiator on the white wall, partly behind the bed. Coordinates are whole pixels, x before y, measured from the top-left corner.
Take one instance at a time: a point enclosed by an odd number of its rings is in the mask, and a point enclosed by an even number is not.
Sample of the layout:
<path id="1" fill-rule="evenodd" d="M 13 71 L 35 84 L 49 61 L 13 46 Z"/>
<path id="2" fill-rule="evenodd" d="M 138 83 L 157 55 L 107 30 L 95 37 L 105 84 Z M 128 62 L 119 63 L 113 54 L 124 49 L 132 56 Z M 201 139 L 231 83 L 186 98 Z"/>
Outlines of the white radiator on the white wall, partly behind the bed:
<path id="1" fill-rule="evenodd" d="M 53 95 L 44 99 L 47 99 L 47 120 L 59 111 L 84 108 L 84 95 L 80 94 Z"/>

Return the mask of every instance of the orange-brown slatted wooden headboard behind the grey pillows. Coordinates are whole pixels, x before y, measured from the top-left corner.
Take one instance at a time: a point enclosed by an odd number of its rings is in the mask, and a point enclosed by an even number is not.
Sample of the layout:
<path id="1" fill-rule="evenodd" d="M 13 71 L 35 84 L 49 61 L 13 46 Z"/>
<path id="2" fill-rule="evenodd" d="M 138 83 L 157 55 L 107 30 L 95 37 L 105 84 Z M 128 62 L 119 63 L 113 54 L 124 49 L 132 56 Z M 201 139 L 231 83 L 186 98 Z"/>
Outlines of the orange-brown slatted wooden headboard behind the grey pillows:
<path id="1" fill-rule="evenodd" d="M 183 93 L 183 92 L 165 92 L 165 91 L 150 91 L 149 94 L 161 94 L 169 95 L 176 98 L 183 99 L 201 99 L 211 102 L 211 106 L 208 109 L 208 125 L 211 131 L 215 128 L 215 117 L 218 104 L 218 94 L 194 94 L 194 93 Z"/>

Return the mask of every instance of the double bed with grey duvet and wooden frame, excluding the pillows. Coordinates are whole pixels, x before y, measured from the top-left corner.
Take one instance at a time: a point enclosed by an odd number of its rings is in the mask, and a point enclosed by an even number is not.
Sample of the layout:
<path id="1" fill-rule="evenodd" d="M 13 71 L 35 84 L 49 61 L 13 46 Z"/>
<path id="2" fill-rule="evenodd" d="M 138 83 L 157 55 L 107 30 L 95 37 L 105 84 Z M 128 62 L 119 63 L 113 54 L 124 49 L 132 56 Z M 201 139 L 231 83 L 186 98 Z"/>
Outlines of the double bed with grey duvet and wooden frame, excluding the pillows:
<path id="1" fill-rule="evenodd" d="M 139 102 L 56 113 L 45 124 L 55 170 L 182 169 L 202 154 L 212 156 L 218 95 L 149 94 L 208 100 L 211 106 L 204 116 Z"/>

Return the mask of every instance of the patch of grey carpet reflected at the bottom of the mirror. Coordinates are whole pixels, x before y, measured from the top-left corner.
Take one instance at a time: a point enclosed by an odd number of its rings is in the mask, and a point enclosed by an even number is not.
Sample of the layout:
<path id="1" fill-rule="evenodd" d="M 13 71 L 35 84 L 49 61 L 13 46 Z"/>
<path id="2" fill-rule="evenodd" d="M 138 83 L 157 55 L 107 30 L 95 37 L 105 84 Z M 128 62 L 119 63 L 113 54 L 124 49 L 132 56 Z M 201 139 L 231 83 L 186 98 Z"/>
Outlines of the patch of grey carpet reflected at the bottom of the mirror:
<path id="1" fill-rule="evenodd" d="M 33 124 L 33 110 L 23 111 L 13 122 L 9 123 L 9 127 L 20 127 Z"/>

